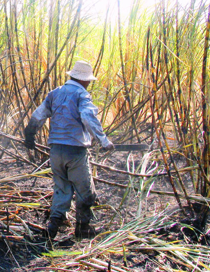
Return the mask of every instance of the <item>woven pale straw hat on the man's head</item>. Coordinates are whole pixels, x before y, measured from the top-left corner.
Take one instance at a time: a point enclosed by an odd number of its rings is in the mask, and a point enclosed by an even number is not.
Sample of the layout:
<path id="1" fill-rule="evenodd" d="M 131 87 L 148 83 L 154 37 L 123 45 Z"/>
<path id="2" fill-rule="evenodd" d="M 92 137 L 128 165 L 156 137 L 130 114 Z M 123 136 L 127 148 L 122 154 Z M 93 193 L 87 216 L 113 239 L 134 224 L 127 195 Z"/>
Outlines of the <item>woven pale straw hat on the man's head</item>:
<path id="1" fill-rule="evenodd" d="M 97 80 L 97 78 L 93 76 L 91 65 L 83 60 L 76 61 L 73 69 L 66 73 L 75 79 L 83 81 Z"/>

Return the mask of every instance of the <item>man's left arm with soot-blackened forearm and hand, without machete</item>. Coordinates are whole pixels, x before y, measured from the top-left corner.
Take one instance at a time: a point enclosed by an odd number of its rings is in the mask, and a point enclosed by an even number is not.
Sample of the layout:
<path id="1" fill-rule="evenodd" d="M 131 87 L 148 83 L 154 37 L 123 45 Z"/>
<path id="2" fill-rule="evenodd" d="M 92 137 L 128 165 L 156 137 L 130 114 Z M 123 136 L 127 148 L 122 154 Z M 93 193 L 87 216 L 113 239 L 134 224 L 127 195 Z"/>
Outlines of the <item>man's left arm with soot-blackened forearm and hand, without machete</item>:
<path id="1" fill-rule="evenodd" d="M 51 117 L 51 109 L 47 96 L 42 104 L 33 112 L 32 117 L 24 130 L 26 138 L 25 145 L 28 148 L 33 149 L 35 147 L 35 135 L 38 130 L 42 128 L 48 117 Z"/>

